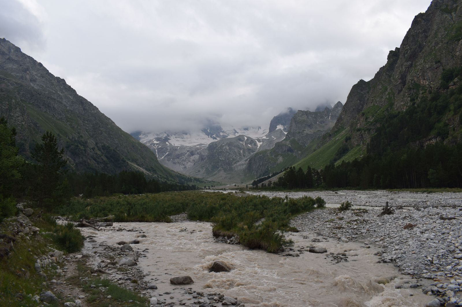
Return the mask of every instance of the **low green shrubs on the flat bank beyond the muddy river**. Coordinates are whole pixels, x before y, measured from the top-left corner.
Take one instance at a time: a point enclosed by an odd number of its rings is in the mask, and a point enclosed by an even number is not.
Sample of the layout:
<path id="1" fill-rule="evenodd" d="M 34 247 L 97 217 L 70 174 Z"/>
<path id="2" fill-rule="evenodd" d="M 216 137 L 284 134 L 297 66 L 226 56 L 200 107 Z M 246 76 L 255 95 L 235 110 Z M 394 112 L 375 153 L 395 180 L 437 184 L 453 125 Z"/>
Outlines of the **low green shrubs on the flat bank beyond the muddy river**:
<path id="1" fill-rule="evenodd" d="M 115 216 L 115 221 L 169 222 L 170 215 L 187 212 L 192 220 L 213 222 L 215 236 L 237 235 L 249 248 L 277 252 L 290 245 L 283 232 L 292 216 L 325 205 L 322 198 L 269 198 L 232 193 L 169 192 L 75 199 L 59 214 L 80 218 Z"/>

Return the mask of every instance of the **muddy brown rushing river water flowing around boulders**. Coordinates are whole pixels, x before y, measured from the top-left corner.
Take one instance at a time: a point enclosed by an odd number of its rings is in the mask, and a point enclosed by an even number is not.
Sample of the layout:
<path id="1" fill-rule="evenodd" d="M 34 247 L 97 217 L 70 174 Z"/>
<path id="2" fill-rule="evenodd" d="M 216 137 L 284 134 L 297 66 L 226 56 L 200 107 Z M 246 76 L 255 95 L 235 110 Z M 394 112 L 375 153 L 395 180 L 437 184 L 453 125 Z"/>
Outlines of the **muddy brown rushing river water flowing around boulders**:
<path id="1" fill-rule="evenodd" d="M 101 231 L 85 229 L 86 235 L 97 236 L 98 242 L 115 245 L 131 240 L 144 232 L 135 249 L 149 248 L 140 257 L 138 267 L 146 279 L 157 279 L 160 293 L 173 291 L 170 277 L 189 275 L 194 290 L 220 292 L 237 297 L 246 306 L 425 306 L 430 301 L 419 289 L 395 289 L 406 282 L 391 264 L 377 264 L 377 249 L 365 248 L 360 242 L 337 242 L 316 236 L 293 233 L 295 246 L 324 247 L 328 253 L 346 252 L 348 262 L 335 264 L 328 254 L 305 252 L 299 257 L 283 257 L 261 250 L 249 250 L 240 245 L 214 241 L 211 224 L 182 223 L 116 223 L 116 228 L 134 231 Z M 214 260 L 227 262 L 231 272 L 208 272 Z M 385 285 L 380 279 L 397 277 Z M 188 286 L 189 287 L 189 286 Z M 208 289 L 207 289 L 208 288 Z M 403 288 L 406 288 L 404 286 Z"/>

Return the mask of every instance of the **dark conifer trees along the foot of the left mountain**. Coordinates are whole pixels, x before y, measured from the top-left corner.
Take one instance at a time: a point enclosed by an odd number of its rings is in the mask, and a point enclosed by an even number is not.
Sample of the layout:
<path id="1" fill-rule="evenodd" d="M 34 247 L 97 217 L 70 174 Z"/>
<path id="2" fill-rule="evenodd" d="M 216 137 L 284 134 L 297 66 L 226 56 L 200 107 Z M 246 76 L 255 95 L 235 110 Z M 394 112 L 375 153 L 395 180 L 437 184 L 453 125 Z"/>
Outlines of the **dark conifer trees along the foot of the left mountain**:
<path id="1" fill-rule="evenodd" d="M 46 132 L 36 143 L 31 158 L 18 154 L 16 130 L 0 118 L 0 218 L 15 211 L 16 199 L 35 201 L 41 207 L 61 205 L 71 196 L 105 196 L 115 193 L 142 194 L 198 189 L 196 185 L 161 182 L 137 171 L 119 174 L 68 171 L 64 149 Z"/>

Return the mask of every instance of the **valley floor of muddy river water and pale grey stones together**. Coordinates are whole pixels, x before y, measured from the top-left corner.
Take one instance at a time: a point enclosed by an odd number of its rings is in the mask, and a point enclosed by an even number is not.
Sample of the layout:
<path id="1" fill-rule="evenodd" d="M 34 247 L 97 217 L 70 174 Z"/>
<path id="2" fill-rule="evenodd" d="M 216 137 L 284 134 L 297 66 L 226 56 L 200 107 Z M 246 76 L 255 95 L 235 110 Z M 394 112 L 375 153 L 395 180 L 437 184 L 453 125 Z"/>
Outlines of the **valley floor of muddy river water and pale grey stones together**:
<path id="1" fill-rule="evenodd" d="M 210 223 L 186 221 L 183 215 L 169 224 L 130 222 L 115 223 L 106 231 L 83 229 L 85 236 L 95 236 L 85 243 L 84 257 L 117 283 L 166 306 L 221 306 L 223 295 L 246 306 L 425 306 L 435 297 L 446 306 L 462 306 L 462 193 L 261 194 L 320 195 L 328 208 L 293 218 L 291 224 L 300 232 L 286 235 L 295 246 L 280 254 L 219 243 Z M 346 200 L 360 207 L 341 213 L 332 208 Z M 395 214 L 377 217 L 385 201 L 396 208 Z M 116 244 L 135 238 L 140 243 L 132 245 L 133 251 L 121 251 Z M 309 253 L 310 247 L 326 248 L 327 253 Z M 137 261 L 136 269 L 108 266 L 115 257 L 125 256 Z M 234 270 L 208 272 L 214 260 Z M 169 283 L 181 275 L 195 283 Z M 149 283 L 158 289 L 147 289 Z"/>

